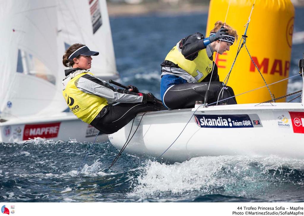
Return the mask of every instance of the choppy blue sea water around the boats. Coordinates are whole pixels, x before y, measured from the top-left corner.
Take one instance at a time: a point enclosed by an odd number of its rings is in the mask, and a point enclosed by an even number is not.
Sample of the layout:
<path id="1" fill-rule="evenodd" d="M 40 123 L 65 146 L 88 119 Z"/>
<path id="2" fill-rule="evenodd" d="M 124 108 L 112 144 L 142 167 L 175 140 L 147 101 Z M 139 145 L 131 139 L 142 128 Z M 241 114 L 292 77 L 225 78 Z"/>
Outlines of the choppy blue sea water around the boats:
<path id="1" fill-rule="evenodd" d="M 295 31 L 304 31 L 296 9 Z M 207 14 L 110 18 L 120 82 L 159 97 L 160 63 L 179 39 L 205 32 Z M 181 25 L 187 23 L 187 25 Z M 170 28 L 168 28 L 170 26 Z M 292 47 L 290 76 L 304 44 Z M 288 92 L 302 88 L 291 79 Z M 304 160 L 197 157 L 161 164 L 123 153 L 109 141 L 0 143 L 0 202 L 303 202 Z"/>

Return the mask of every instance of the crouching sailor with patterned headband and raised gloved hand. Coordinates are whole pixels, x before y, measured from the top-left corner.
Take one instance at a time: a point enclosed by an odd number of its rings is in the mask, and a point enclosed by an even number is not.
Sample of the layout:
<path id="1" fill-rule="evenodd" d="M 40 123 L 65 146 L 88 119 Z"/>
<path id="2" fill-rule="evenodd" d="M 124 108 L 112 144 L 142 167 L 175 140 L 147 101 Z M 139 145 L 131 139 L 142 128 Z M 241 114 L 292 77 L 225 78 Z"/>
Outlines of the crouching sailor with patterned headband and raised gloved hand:
<path id="1" fill-rule="evenodd" d="M 207 103 L 216 102 L 223 83 L 219 82 L 213 52 L 223 54 L 229 51 L 237 37 L 237 32 L 229 25 L 217 21 L 209 38 L 198 32 L 181 39 L 161 64 L 161 99 L 164 105 L 169 109 L 193 108 L 195 101 L 204 100 L 209 81 Z M 231 96 L 234 96 L 233 89 L 225 86 L 223 98 Z M 236 103 L 235 97 L 219 102 Z"/>

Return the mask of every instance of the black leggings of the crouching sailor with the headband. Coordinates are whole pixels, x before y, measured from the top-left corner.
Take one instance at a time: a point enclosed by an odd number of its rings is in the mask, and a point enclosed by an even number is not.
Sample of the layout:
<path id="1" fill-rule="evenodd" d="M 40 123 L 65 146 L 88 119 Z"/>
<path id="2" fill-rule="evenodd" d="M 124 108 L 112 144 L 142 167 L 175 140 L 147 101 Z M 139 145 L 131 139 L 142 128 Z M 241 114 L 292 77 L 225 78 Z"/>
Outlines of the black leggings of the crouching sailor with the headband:
<path id="1" fill-rule="evenodd" d="M 203 83 L 183 83 L 172 86 L 164 95 L 164 105 L 169 109 L 183 109 L 193 108 L 195 101 L 204 101 L 205 93 L 208 89 L 209 82 Z M 229 86 L 225 86 L 228 89 L 224 89 L 224 93 L 221 92 L 223 88 L 222 82 L 211 82 L 208 91 L 207 103 L 213 103 L 217 101 L 219 93 L 219 100 L 234 96 L 233 89 Z M 222 98 L 223 93 L 223 98 Z M 219 102 L 219 104 L 236 104 L 235 97 Z"/>

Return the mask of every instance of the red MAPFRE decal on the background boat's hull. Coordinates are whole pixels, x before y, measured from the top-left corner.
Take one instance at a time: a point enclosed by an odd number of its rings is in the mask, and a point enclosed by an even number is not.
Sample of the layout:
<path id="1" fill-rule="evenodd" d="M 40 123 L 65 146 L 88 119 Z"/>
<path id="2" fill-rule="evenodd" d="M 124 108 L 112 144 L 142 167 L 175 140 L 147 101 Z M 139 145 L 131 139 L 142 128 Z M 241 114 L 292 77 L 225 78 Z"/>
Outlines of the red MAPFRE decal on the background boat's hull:
<path id="1" fill-rule="evenodd" d="M 24 126 L 23 140 L 58 137 L 60 122 L 48 124 L 26 124 Z"/>

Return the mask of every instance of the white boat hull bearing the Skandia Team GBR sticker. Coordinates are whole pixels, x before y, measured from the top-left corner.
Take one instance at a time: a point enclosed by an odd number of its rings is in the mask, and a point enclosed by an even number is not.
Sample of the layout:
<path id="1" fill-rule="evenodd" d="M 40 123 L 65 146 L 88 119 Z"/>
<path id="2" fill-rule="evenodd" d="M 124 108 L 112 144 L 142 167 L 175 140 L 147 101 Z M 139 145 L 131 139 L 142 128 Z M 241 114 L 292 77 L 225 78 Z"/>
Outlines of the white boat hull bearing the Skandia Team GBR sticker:
<path id="1" fill-rule="evenodd" d="M 195 112 L 196 119 L 192 116 L 195 110 L 145 114 L 124 152 L 134 156 L 159 157 L 174 142 L 191 118 L 178 139 L 161 156 L 162 160 L 174 162 L 192 157 L 220 155 L 304 158 L 304 108 L 301 103 L 238 104 L 199 108 Z M 141 116 L 136 117 L 130 137 L 140 119 Z M 209 119 L 209 124 L 206 119 Z M 210 123 L 212 119 L 213 123 Z M 110 142 L 119 150 L 126 143 L 131 125 L 132 122 L 109 135 Z"/>

